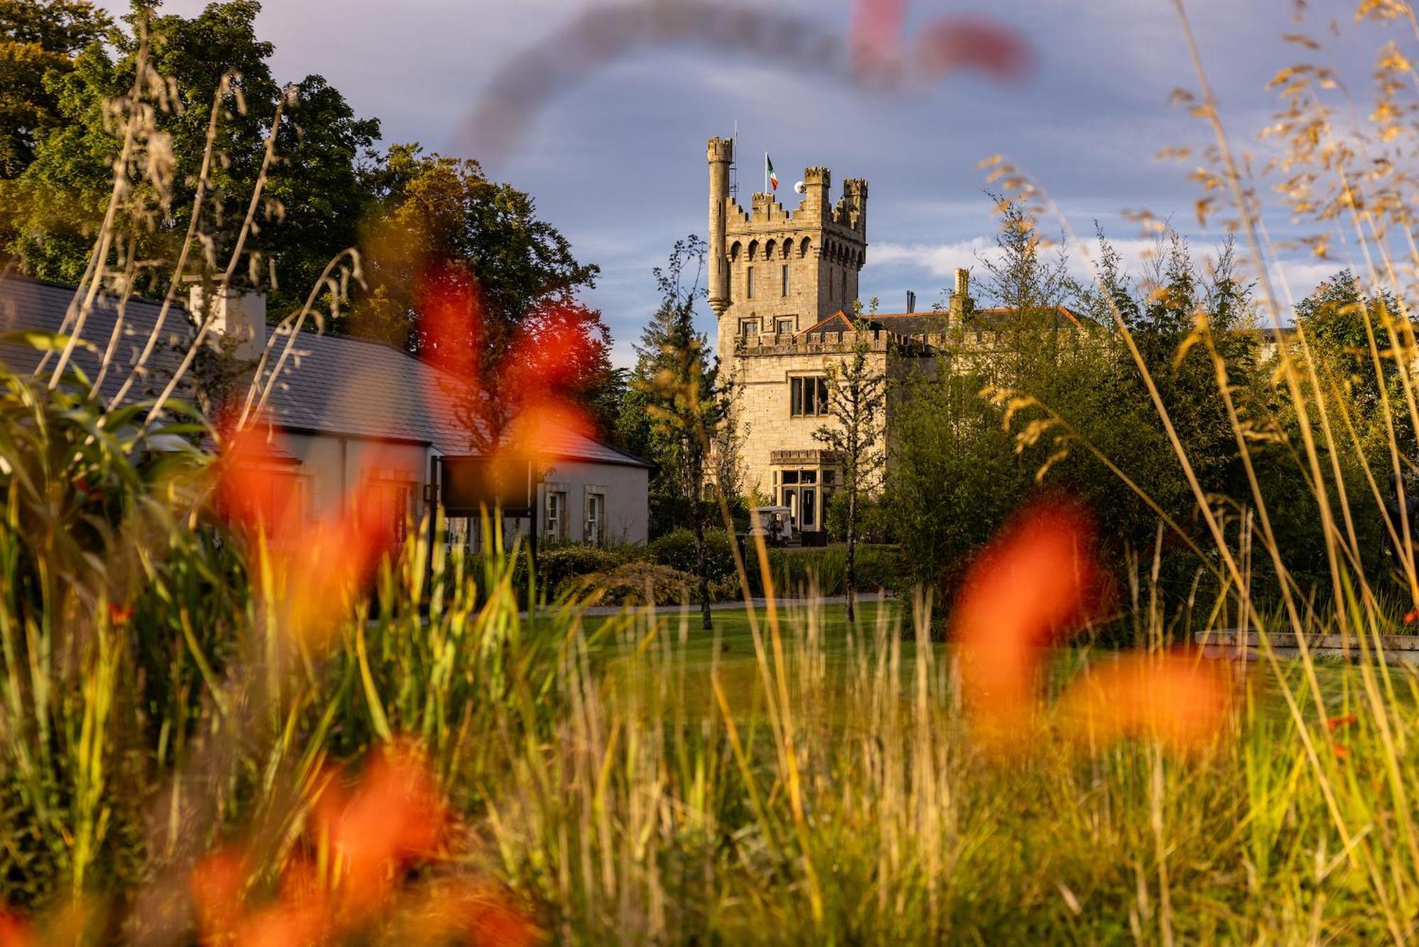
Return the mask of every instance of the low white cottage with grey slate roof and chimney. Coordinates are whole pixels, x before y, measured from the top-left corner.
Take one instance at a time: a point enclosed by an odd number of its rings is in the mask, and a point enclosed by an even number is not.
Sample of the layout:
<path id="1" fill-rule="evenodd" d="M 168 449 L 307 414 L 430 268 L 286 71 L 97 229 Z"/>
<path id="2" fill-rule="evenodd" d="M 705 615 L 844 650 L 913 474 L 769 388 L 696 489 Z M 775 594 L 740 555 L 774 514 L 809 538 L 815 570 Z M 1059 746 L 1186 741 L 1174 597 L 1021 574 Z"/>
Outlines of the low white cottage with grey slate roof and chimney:
<path id="1" fill-rule="evenodd" d="M 74 288 L 23 276 L 0 278 L 0 332 L 58 332 Z M 201 305 L 192 295 L 193 308 Z M 241 339 L 238 354 L 260 353 L 267 343 L 265 302 L 260 295 L 216 301 L 213 326 Z M 115 357 L 101 390 L 114 398 L 152 336 L 160 306 L 131 299 L 122 313 Z M 101 298 L 82 337 L 102 352 L 118 325 L 115 301 Z M 125 400 L 140 400 L 172 377 L 192 337 L 187 308 L 175 305 L 162 326 L 140 379 Z M 277 451 L 285 492 L 314 517 L 362 509 L 380 510 L 390 527 L 419 520 L 429 502 L 426 486 L 438 458 L 468 454 L 468 437 L 455 422 L 450 380 L 427 363 L 390 346 L 342 336 L 275 330 L 263 377 L 268 381 L 264 417 L 278 427 Z M 33 349 L 0 344 L 0 360 L 31 370 Z M 95 377 L 98 357 L 77 352 L 77 364 Z M 644 543 L 650 532 L 651 465 L 579 432 L 558 428 L 551 442 L 552 468 L 538 485 L 538 533 L 542 542 Z M 511 529 L 526 529 L 526 520 Z"/>

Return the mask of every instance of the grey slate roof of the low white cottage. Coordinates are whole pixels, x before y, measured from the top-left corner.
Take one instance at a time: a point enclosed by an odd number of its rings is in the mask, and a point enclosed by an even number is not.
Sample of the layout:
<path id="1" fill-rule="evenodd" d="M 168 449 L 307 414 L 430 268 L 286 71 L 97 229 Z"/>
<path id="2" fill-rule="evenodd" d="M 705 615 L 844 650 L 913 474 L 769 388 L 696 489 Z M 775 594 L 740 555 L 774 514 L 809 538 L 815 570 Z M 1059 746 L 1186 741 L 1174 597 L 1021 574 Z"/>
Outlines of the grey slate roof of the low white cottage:
<path id="1" fill-rule="evenodd" d="M 17 329 L 58 332 L 72 298 L 72 286 L 0 276 L 0 333 Z M 112 298 L 98 299 L 84 326 L 84 339 L 101 350 L 114 332 L 115 302 Z M 101 388 L 105 398 L 118 394 L 129 366 L 136 363 L 156 323 L 159 309 L 159 303 L 148 299 L 129 301 L 114 367 Z M 274 332 L 277 342 L 271 346 L 267 371 L 277 369 L 289 343 L 289 353 L 280 363 L 280 377 L 267 401 L 268 414 L 280 425 L 294 431 L 427 444 L 441 454 L 468 454 L 468 437 L 450 403 L 450 393 L 457 384 L 451 377 L 377 342 L 314 332 L 297 333 L 292 342 L 288 330 Z M 180 363 L 192 333 L 192 319 L 183 306 L 175 303 L 163 323 L 163 335 L 170 344 L 155 347 L 145 383 L 135 384 L 126 400 L 146 398 L 160 390 Z M 11 369 L 30 371 L 38 359 L 40 353 L 34 349 L 0 343 L 0 360 Z M 74 360 L 94 377 L 96 354 L 77 349 Z M 118 370 L 119 366 L 122 370 Z M 563 461 L 651 466 L 565 428 L 545 432 L 542 439 L 551 442 L 555 455 Z"/>

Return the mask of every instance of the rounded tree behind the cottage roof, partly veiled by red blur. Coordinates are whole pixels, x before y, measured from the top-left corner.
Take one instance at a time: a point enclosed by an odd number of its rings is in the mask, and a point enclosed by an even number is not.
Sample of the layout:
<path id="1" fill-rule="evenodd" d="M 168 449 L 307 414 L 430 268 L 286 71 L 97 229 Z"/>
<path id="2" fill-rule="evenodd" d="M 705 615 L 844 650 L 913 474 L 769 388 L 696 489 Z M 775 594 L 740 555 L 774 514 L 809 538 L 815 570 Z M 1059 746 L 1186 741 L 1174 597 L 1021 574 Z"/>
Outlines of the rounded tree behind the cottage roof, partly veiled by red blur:
<path id="1" fill-rule="evenodd" d="M 366 292 L 349 330 L 443 364 L 471 383 L 460 413 L 490 449 L 529 401 L 573 398 L 599 425 L 620 397 L 610 333 L 576 293 L 596 285 L 531 196 L 474 160 L 396 145 L 365 170 L 373 196 L 360 245 Z M 543 373 L 525 367 L 549 353 Z M 600 431 L 606 434 L 607 431 Z"/>

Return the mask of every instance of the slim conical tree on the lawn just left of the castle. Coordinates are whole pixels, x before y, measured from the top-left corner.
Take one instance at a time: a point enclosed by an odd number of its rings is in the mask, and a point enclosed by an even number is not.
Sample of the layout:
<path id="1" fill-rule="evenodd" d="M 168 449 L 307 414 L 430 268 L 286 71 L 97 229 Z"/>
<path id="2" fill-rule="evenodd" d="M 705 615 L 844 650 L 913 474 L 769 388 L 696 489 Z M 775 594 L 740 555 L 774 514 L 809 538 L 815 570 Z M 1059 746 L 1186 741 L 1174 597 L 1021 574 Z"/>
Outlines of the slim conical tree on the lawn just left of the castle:
<path id="1" fill-rule="evenodd" d="M 701 621 L 708 631 L 714 624 L 701 499 L 711 438 L 724 421 L 728 404 L 719 391 L 719 369 L 710 359 L 708 340 L 695 330 L 695 301 L 704 293 L 700 288 L 704 259 L 704 241 L 688 237 L 675 242 L 668 265 L 656 269 L 661 303 L 643 344 L 654 342 L 658 349 L 654 353 L 643 350 L 650 364 L 637 373 L 631 384 L 644 397 L 651 431 L 663 442 L 673 444 L 678 455 L 677 479 L 695 534 Z M 691 265 L 692 275 L 688 272 Z"/>

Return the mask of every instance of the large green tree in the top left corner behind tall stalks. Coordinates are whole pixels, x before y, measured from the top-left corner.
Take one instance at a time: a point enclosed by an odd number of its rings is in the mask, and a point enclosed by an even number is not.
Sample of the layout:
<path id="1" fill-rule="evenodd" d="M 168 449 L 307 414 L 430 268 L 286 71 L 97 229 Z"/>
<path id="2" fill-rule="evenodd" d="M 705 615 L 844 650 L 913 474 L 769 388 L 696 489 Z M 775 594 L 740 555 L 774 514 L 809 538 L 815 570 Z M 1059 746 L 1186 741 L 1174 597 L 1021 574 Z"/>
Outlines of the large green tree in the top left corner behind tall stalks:
<path id="1" fill-rule="evenodd" d="M 203 259 L 214 269 L 226 268 L 282 99 L 277 160 L 238 272 L 261 281 L 270 289 L 271 310 L 285 315 L 304 301 L 325 264 L 355 244 L 368 204 L 359 162 L 379 138 L 379 123 L 356 118 L 339 91 L 318 75 L 282 86 L 268 65 L 274 47 L 255 33 L 260 10 L 257 0 L 228 0 L 186 18 L 135 6 L 123 17 L 126 28 L 108 31 L 106 44 L 89 44 L 72 68 L 50 72 L 45 89 L 54 96 L 55 122 L 37 136 L 34 160 L 17 179 L 6 237 L 6 251 L 24 272 L 67 282 L 82 275 L 121 150 L 109 103 L 133 88 L 145 31 L 149 64 L 172 92 L 162 102 L 149 101 L 152 153 L 172 166 L 163 187 L 139 193 L 142 208 L 119 221 L 138 241 L 138 259 L 162 261 L 138 274 L 139 288 L 162 289 L 172 278 L 213 102 L 224 84 L 230 89 L 220 102 L 219 155 L 209 174 L 199 221 L 203 252 L 196 254 L 194 268 Z"/>

